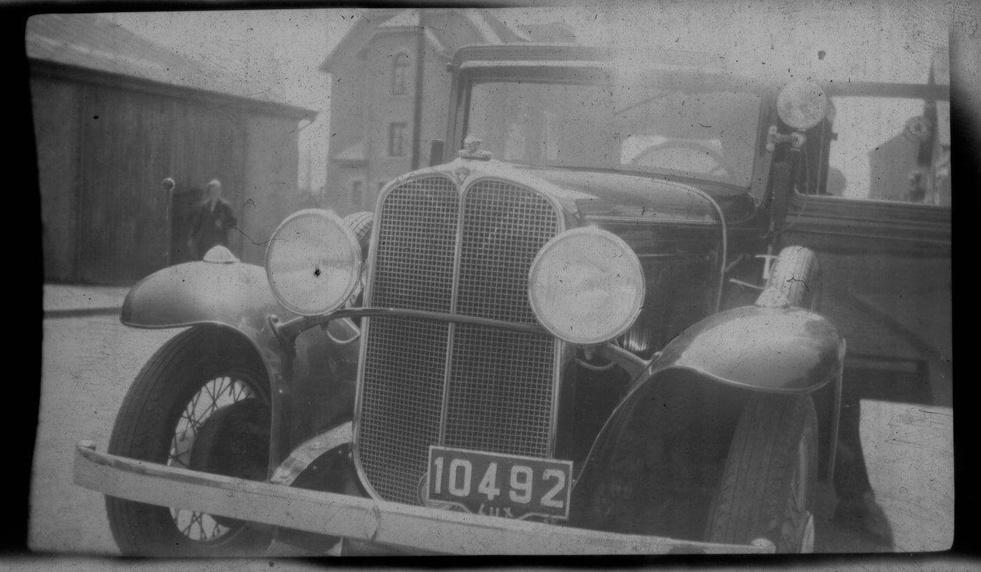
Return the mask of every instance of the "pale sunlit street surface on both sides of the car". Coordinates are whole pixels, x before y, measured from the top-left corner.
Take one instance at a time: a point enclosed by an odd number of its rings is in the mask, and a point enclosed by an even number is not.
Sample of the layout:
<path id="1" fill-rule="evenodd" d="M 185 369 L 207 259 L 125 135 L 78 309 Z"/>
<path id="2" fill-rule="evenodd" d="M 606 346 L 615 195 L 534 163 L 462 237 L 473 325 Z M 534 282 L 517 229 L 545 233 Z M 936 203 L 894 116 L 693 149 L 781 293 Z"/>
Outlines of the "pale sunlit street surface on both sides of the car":
<path id="1" fill-rule="evenodd" d="M 41 399 L 30 491 L 28 546 L 37 552 L 118 554 L 103 497 L 72 484 L 75 445 L 104 447 L 131 380 L 180 330 L 132 330 L 117 315 L 44 320 Z M 939 402 L 950 403 L 950 400 Z M 950 407 L 862 400 L 860 432 L 869 479 L 894 546 L 829 522 L 821 494 L 815 548 L 824 552 L 943 550 L 954 539 L 954 445 Z M 274 546 L 273 555 L 291 555 Z"/>

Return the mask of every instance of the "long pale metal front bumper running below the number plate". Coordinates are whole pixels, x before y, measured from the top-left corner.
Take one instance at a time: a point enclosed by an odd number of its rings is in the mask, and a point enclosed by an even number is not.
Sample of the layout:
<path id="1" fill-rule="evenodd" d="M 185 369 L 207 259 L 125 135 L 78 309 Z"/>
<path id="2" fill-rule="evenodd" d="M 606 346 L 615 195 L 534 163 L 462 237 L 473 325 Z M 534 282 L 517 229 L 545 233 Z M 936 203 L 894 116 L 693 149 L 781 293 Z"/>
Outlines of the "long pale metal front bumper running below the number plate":
<path id="1" fill-rule="evenodd" d="M 765 553 L 774 546 L 678 541 L 451 512 L 188 471 L 79 442 L 75 484 L 99 493 L 317 534 L 468 554 Z"/>

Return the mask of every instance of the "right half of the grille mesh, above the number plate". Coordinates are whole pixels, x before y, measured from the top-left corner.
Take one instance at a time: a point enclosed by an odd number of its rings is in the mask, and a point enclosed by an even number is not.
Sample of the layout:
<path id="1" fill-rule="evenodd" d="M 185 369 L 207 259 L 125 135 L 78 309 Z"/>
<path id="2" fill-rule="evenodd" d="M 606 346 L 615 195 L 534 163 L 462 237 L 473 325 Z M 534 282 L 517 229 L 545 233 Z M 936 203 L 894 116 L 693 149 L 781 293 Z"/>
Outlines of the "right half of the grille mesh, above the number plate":
<path id="1" fill-rule="evenodd" d="M 519 186 L 483 181 L 468 190 L 463 218 L 456 312 L 537 323 L 528 304 L 528 270 L 558 230 L 551 205 Z M 546 455 L 554 343 L 484 326 L 457 326 L 445 444 Z"/>

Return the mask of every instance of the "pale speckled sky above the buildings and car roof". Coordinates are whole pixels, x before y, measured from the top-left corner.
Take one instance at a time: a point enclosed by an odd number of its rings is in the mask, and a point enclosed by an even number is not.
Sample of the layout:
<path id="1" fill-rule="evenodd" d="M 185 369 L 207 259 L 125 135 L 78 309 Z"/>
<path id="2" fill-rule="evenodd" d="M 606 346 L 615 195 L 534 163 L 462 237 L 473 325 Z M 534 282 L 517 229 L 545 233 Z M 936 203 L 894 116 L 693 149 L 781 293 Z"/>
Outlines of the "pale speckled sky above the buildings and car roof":
<path id="1" fill-rule="evenodd" d="M 300 131 L 299 188 L 326 181 L 330 81 L 317 70 L 364 9 L 155 12 L 107 15 L 117 24 L 320 112 Z M 507 23 L 562 22 L 580 43 L 705 51 L 737 70 L 817 80 L 922 82 L 946 48 L 942 0 L 587 0 L 495 11 Z"/>

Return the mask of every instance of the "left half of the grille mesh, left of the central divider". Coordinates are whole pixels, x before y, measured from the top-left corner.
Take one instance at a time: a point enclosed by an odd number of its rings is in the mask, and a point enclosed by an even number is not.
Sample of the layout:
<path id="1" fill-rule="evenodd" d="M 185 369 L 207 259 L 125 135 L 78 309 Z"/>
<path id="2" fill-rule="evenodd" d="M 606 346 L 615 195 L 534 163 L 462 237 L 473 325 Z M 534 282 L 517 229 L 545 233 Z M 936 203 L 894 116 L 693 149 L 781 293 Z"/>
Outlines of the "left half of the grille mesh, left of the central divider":
<path id="1" fill-rule="evenodd" d="M 459 198 L 441 177 L 388 193 L 378 217 L 371 304 L 448 312 Z M 430 443 L 439 440 L 449 326 L 375 318 L 367 333 L 358 456 L 389 500 L 415 502 Z"/>

